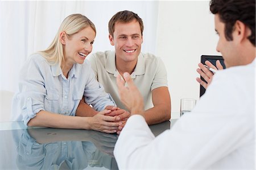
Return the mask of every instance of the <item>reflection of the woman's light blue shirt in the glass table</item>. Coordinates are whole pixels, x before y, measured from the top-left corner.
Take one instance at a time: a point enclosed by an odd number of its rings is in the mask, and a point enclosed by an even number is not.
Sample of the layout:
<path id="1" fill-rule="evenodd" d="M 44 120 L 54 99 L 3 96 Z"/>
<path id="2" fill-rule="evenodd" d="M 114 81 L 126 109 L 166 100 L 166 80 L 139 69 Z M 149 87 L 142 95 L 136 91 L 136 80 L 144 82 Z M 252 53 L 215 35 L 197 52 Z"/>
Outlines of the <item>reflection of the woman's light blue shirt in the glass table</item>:
<path id="1" fill-rule="evenodd" d="M 26 131 L 26 130 L 24 130 Z M 19 169 L 85 169 L 97 151 L 91 142 L 61 141 L 39 144 L 26 132 L 19 139 L 16 165 Z"/>

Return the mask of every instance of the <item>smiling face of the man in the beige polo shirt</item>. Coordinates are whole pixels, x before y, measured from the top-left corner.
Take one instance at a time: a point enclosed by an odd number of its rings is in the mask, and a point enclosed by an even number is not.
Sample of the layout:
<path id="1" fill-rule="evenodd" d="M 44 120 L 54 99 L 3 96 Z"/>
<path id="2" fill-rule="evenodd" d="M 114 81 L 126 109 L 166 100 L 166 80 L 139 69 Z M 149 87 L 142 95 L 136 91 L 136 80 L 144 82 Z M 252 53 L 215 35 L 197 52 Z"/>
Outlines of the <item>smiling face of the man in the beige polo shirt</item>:
<path id="1" fill-rule="evenodd" d="M 141 27 L 137 20 L 115 23 L 114 34 L 109 35 L 110 44 L 115 46 L 115 55 L 125 62 L 137 61 L 143 42 Z"/>

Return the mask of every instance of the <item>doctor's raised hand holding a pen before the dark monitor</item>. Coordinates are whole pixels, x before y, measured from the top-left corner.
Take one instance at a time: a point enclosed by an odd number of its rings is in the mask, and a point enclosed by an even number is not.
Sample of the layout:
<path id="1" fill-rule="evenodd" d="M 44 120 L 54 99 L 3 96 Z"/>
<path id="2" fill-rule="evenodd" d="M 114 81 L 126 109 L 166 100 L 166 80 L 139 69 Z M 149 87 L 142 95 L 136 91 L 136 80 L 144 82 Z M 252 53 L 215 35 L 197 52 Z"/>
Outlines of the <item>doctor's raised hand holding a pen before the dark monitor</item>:
<path id="1" fill-rule="evenodd" d="M 212 63 L 210 63 L 210 61 L 205 61 L 205 64 L 208 67 L 216 69 L 216 70 L 217 69 L 219 69 L 219 70 L 223 69 L 223 67 L 220 63 L 220 60 L 216 61 L 217 68 Z M 207 89 L 207 87 L 210 85 L 210 82 L 212 82 L 212 77 L 213 77 L 214 74 L 211 71 L 209 71 L 208 68 L 204 67 L 204 64 L 199 63 L 198 66 L 199 66 L 199 68 L 196 69 L 197 73 L 199 73 L 200 76 L 203 77 L 204 80 L 207 81 L 207 82 L 204 82 L 199 77 L 196 78 L 196 81 L 199 82 L 200 85 L 202 85 L 205 89 Z"/>

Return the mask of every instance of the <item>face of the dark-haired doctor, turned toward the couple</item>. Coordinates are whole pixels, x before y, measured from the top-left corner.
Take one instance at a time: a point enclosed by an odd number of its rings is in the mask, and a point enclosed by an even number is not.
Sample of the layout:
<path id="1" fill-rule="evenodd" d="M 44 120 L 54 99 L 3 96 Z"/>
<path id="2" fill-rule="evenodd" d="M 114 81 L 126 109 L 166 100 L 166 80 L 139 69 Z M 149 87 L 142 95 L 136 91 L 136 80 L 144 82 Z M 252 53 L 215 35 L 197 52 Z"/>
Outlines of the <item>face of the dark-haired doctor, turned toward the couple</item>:
<path id="1" fill-rule="evenodd" d="M 218 52 L 221 52 L 221 55 L 224 58 L 224 63 L 226 65 L 226 68 L 233 67 L 236 65 L 241 65 L 242 57 L 240 56 L 240 53 L 239 53 L 239 44 L 236 41 L 236 34 L 234 34 L 233 32 L 232 41 L 226 40 L 225 32 L 224 32 L 225 24 L 220 21 L 220 16 L 218 14 L 214 16 L 214 23 L 215 23 L 215 30 L 219 36 L 216 50 Z"/>

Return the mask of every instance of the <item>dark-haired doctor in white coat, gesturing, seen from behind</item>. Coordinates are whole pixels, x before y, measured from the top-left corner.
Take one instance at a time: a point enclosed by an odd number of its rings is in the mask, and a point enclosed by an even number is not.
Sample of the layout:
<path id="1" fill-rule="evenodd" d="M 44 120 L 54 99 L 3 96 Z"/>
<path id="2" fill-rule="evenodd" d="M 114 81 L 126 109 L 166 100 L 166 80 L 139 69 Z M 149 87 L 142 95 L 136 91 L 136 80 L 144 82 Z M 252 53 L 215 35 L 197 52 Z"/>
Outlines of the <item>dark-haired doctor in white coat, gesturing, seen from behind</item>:
<path id="1" fill-rule="evenodd" d="M 210 10 L 227 69 L 171 130 L 155 137 L 129 73 L 117 77 L 131 113 L 115 144 L 119 169 L 255 168 L 255 0 L 212 0 Z"/>

